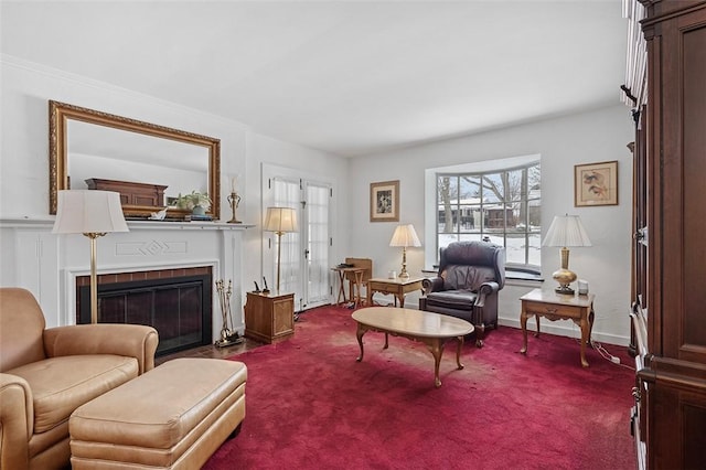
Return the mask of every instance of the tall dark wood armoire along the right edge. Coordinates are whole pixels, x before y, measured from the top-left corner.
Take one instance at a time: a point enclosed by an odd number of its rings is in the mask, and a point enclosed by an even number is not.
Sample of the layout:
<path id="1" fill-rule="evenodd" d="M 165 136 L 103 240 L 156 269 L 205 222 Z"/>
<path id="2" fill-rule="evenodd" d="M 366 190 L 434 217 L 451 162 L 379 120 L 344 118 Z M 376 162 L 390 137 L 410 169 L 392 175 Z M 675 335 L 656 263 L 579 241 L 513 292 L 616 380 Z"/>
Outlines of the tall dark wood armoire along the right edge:
<path id="1" fill-rule="evenodd" d="M 646 87 L 633 111 L 633 434 L 640 467 L 704 469 L 706 1 L 640 2 Z"/>

